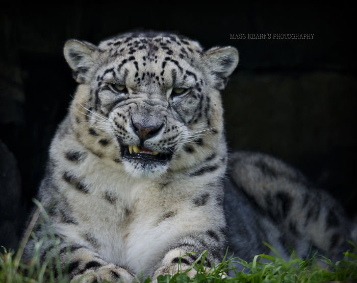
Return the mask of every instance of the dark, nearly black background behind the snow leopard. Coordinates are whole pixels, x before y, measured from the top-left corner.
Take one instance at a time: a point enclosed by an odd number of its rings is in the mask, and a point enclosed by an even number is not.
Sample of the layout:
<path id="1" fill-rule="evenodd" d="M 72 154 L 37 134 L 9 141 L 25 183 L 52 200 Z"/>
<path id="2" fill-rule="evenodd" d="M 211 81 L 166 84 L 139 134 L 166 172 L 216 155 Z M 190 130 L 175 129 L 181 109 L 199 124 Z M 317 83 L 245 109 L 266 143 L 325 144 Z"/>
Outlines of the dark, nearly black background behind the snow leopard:
<path id="1" fill-rule="evenodd" d="M 356 54 L 347 6 L 249 2 L 192 6 L 107 2 L 0 11 L 0 246 L 16 248 L 47 148 L 75 83 L 62 48 L 127 30 L 176 31 L 205 48 L 233 45 L 240 63 L 222 93 L 231 150 L 273 154 L 357 214 Z M 230 39 L 233 33 L 314 33 L 312 40 Z"/>

